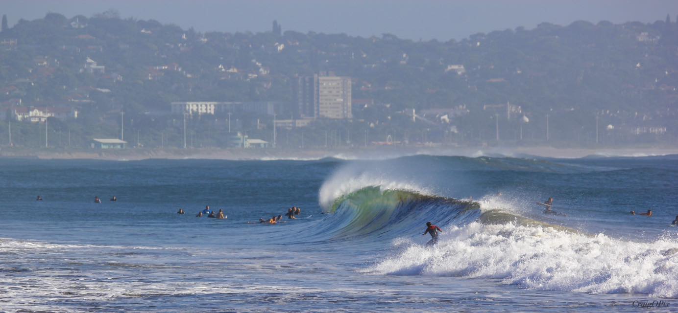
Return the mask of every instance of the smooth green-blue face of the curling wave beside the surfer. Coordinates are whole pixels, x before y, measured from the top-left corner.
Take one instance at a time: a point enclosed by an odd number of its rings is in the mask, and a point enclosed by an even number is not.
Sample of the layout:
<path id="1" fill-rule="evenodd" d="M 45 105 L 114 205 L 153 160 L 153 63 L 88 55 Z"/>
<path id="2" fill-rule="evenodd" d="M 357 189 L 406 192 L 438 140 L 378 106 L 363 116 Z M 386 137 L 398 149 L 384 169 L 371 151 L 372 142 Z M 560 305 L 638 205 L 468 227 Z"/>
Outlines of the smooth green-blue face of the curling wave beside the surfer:
<path id="1" fill-rule="evenodd" d="M 481 210 L 479 203 L 441 196 L 428 196 L 405 190 L 362 188 L 336 199 L 328 216 L 316 229 L 323 238 L 395 238 L 423 232 L 426 222 L 441 227 L 482 224 L 517 224 L 553 227 L 528 217 L 498 209 Z"/>

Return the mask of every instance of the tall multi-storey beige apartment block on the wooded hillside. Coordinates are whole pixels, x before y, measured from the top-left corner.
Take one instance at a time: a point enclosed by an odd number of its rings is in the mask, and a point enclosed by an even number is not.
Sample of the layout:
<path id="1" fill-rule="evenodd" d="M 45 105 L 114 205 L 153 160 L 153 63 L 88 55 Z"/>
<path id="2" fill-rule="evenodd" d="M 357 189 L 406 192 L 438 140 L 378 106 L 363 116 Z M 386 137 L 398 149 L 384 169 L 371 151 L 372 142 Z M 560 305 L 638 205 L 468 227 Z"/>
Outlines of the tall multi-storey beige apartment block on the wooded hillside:
<path id="1" fill-rule="evenodd" d="M 302 119 L 353 118 L 351 77 L 323 74 L 298 78 L 295 91 L 297 116 Z"/>

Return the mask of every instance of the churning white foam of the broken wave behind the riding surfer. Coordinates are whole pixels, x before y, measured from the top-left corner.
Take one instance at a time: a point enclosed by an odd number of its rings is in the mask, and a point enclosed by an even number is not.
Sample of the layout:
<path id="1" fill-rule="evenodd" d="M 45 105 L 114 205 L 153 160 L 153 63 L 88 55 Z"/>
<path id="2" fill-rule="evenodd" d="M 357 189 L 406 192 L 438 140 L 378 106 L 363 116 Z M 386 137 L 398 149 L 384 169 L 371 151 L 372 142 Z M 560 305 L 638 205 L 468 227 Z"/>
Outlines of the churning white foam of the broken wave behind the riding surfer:
<path id="1" fill-rule="evenodd" d="M 603 234 L 471 223 L 445 232 L 437 247 L 394 241 L 396 255 L 375 274 L 500 278 L 539 290 L 645 293 L 678 297 L 678 243 L 634 243 Z"/>

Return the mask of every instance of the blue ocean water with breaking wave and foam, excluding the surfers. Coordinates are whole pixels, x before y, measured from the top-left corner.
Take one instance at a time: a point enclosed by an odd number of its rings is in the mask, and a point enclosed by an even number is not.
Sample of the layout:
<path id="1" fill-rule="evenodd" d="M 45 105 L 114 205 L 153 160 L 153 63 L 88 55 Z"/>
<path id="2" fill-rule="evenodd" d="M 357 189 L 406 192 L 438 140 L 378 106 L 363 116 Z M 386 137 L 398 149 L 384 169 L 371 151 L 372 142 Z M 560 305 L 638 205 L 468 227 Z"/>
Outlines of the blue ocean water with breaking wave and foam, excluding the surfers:
<path id="1" fill-rule="evenodd" d="M 676 155 L 0 159 L 0 312 L 675 312 L 676 190 Z"/>

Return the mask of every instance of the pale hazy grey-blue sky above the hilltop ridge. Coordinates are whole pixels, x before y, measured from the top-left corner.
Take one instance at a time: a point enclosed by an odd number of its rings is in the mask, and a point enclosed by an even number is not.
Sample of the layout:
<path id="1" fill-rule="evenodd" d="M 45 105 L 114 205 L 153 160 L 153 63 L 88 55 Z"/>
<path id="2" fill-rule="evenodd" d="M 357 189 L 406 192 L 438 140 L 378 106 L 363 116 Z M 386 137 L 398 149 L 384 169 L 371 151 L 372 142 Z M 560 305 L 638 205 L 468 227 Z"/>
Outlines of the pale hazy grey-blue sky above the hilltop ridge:
<path id="1" fill-rule="evenodd" d="M 369 37 L 392 33 L 407 39 L 462 39 L 474 33 L 506 28 L 534 28 L 540 22 L 567 25 L 576 20 L 597 23 L 654 22 L 666 14 L 675 21 L 678 0 L 1 0 L 0 14 L 10 25 L 47 12 L 92 16 L 116 9 L 123 18 L 155 19 L 163 24 L 193 26 L 198 31 L 271 30 L 346 33 Z"/>

